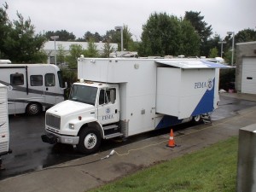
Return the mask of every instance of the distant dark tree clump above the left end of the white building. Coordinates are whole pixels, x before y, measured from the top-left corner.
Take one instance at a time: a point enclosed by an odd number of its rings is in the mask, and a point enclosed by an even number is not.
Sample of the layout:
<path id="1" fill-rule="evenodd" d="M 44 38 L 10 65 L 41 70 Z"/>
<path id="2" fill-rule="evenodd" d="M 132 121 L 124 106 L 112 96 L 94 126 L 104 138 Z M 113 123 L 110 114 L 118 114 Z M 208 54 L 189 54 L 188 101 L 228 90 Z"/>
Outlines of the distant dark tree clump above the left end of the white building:
<path id="1" fill-rule="evenodd" d="M 58 41 L 74 41 L 76 39 L 73 32 L 67 32 L 66 30 L 45 32 L 45 38 L 49 41 L 53 41 L 53 39 L 50 38 L 51 36 L 59 36 Z"/>

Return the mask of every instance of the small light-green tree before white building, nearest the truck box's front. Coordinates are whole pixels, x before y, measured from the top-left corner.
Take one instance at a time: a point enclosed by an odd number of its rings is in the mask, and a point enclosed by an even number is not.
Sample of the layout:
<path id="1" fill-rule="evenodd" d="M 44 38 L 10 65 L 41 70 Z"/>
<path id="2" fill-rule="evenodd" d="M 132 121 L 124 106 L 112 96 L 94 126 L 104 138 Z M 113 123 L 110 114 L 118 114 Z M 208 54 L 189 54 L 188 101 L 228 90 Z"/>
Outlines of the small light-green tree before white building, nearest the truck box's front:
<path id="1" fill-rule="evenodd" d="M 68 67 L 77 68 L 78 67 L 78 58 L 80 55 L 85 55 L 85 50 L 80 44 L 71 44 L 69 46 L 70 55 L 66 56 L 66 61 L 68 63 Z"/>

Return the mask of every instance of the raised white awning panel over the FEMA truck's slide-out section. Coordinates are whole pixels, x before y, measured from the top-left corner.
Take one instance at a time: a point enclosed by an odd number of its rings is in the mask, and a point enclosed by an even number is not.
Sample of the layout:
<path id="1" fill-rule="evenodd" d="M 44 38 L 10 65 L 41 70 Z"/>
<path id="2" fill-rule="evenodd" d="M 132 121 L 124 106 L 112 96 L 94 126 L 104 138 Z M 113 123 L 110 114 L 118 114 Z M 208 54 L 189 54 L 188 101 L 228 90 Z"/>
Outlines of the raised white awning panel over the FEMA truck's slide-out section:
<path id="1" fill-rule="evenodd" d="M 167 66 L 178 67 L 183 69 L 195 69 L 195 68 L 232 68 L 220 63 L 214 63 L 204 60 L 156 60 L 155 62 L 164 64 Z"/>

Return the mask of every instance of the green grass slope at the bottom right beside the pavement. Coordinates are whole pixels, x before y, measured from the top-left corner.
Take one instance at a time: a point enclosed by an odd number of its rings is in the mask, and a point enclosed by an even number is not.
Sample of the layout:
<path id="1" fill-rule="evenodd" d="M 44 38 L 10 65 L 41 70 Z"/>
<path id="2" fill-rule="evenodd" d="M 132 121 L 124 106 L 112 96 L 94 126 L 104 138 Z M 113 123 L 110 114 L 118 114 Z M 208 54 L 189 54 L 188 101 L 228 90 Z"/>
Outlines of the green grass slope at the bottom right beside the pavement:
<path id="1" fill-rule="evenodd" d="M 236 191 L 238 138 L 151 166 L 91 192 Z"/>

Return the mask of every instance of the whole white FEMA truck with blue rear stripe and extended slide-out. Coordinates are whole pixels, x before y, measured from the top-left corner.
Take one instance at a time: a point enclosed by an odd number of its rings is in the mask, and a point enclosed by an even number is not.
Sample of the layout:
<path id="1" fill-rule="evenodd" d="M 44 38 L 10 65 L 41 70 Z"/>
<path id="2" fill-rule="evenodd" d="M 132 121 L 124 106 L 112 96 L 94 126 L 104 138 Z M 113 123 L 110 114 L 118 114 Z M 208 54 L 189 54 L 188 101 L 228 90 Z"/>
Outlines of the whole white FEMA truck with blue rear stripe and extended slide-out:
<path id="1" fill-rule="evenodd" d="M 45 143 L 95 152 L 102 139 L 130 137 L 212 113 L 218 73 L 199 59 L 78 59 L 69 99 L 46 111 Z"/>

